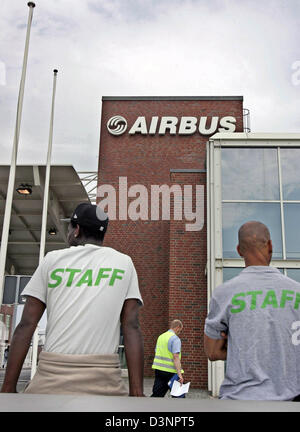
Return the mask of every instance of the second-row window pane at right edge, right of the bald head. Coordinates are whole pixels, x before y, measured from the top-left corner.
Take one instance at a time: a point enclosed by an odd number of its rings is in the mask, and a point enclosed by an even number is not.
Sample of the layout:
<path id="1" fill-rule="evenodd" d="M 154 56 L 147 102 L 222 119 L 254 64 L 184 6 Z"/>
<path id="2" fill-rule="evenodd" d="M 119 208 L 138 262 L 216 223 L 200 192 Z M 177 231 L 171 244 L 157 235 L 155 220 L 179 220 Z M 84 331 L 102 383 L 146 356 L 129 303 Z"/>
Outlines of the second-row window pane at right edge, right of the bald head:
<path id="1" fill-rule="evenodd" d="M 286 257 L 300 258 L 300 204 L 284 204 Z"/>

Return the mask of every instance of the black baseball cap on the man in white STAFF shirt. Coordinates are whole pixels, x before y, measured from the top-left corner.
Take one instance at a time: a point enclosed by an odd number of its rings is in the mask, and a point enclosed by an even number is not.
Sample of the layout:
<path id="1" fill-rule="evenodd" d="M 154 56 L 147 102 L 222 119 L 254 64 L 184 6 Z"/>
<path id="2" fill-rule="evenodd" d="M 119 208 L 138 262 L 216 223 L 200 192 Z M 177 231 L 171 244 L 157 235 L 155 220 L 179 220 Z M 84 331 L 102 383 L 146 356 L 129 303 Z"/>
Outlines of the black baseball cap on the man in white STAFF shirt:
<path id="1" fill-rule="evenodd" d="M 90 231 L 101 231 L 103 233 L 107 230 L 108 216 L 96 204 L 81 203 L 74 210 L 71 218 L 63 219 L 66 222 L 74 222 L 79 226 L 88 228 Z"/>

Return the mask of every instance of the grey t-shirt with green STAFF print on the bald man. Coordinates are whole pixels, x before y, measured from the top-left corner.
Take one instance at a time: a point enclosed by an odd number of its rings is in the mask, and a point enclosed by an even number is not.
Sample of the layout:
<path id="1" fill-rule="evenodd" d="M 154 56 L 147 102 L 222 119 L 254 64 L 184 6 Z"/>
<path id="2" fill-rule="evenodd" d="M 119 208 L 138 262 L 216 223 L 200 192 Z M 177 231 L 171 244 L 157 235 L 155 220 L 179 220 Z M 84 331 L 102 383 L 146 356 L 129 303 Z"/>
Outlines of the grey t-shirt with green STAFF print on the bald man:
<path id="1" fill-rule="evenodd" d="M 221 399 L 292 400 L 300 394 L 300 284 L 272 267 L 246 267 L 217 287 L 205 334 L 228 331 Z"/>

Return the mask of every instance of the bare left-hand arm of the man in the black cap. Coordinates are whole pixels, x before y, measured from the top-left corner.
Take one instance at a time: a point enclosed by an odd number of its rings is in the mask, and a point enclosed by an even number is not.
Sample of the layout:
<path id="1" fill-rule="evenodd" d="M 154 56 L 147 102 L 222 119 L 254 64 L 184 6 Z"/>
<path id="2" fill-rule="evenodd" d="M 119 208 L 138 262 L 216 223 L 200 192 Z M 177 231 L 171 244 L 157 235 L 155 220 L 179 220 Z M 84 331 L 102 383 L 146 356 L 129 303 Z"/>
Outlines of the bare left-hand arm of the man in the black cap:
<path id="1" fill-rule="evenodd" d="M 35 297 L 28 296 L 21 321 L 14 331 L 9 349 L 2 393 L 17 393 L 17 382 L 30 347 L 34 330 L 45 310 L 45 304 Z"/>

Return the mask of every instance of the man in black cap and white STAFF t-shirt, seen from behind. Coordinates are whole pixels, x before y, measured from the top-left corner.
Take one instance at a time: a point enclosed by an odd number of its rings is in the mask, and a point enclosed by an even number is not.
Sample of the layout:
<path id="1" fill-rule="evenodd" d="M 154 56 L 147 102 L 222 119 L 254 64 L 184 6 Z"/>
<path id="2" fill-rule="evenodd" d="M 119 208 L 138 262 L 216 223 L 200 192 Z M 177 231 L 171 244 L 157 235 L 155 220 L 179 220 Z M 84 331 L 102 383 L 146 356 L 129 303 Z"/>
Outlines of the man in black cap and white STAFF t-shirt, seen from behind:
<path id="1" fill-rule="evenodd" d="M 121 323 L 129 395 L 143 396 L 142 298 L 132 260 L 102 246 L 108 217 L 99 206 L 82 203 L 68 221 L 70 247 L 49 252 L 22 292 L 26 304 L 1 391 L 16 392 L 47 307 L 44 351 L 25 393 L 128 395 L 117 354 Z"/>

